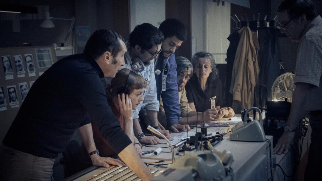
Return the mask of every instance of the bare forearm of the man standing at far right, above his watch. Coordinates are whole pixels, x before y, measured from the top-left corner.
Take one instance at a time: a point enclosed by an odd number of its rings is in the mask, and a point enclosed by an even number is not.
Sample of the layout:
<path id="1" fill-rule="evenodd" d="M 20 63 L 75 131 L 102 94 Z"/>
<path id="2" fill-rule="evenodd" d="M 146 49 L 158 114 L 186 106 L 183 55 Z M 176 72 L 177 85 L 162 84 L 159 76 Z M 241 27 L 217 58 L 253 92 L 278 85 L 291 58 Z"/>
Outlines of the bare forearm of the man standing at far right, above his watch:
<path id="1" fill-rule="evenodd" d="M 297 84 L 292 98 L 291 110 L 289 113 L 288 121 L 286 125 L 291 129 L 295 129 L 298 125 L 299 120 L 305 114 L 305 103 L 312 91 L 312 85 L 307 83 Z"/>

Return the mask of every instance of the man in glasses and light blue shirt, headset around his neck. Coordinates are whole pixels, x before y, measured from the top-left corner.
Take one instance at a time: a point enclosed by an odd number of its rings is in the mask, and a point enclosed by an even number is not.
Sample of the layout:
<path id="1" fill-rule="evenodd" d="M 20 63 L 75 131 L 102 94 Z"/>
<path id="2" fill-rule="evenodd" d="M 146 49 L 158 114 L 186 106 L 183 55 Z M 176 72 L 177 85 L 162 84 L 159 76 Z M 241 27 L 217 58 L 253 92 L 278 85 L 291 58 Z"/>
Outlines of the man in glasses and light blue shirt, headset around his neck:
<path id="1" fill-rule="evenodd" d="M 156 136 L 145 136 L 140 123 L 139 111 L 141 108 L 146 111 L 150 125 L 170 138 L 169 131 L 164 129 L 157 120 L 157 111 L 159 110 L 159 101 L 156 97 L 156 79 L 154 73 L 154 59 L 158 58 L 162 51 L 163 33 L 155 26 L 149 23 L 137 25 L 131 32 L 126 43 L 128 52 L 125 53 L 125 65 L 121 68 L 127 68 L 142 75 L 147 81 L 147 89 L 143 94 L 141 102 L 135 111 L 133 111 L 134 134 L 140 143 L 156 145 L 160 142 Z M 135 67 L 135 68 L 134 68 Z"/>

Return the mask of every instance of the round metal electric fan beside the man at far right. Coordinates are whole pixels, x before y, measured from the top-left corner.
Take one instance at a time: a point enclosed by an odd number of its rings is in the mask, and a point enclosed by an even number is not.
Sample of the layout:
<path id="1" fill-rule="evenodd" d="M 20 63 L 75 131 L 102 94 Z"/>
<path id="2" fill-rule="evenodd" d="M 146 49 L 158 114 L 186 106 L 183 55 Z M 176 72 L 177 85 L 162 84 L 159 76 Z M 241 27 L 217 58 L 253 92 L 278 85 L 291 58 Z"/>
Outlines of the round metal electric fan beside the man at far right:
<path id="1" fill-rule="evenodd" d="M 293 91 L 296 85 L 294 84 L 294 73 L 286 72 L 277 77 L 272 86 L 272 98 L 274 101 L 285 99 L 292 102 Z"/>

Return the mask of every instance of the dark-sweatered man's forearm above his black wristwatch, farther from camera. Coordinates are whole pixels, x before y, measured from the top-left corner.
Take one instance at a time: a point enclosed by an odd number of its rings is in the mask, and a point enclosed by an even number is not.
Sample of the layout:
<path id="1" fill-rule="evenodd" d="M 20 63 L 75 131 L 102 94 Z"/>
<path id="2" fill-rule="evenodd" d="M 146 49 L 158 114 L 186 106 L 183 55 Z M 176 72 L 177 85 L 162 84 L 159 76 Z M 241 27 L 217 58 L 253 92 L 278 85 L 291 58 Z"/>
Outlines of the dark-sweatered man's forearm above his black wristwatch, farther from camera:
<path id="1" fill-rule="evenodd" d="M 92 151 L 96 150 L 94 138 L 93 138 L 93 130 L 92 130 L 92 124 L 85 124 L 82 127 L 79 127 L 78 133 L 81 136 L 81 140 L 87 149 L 87 152 L 90 153 Z"/>

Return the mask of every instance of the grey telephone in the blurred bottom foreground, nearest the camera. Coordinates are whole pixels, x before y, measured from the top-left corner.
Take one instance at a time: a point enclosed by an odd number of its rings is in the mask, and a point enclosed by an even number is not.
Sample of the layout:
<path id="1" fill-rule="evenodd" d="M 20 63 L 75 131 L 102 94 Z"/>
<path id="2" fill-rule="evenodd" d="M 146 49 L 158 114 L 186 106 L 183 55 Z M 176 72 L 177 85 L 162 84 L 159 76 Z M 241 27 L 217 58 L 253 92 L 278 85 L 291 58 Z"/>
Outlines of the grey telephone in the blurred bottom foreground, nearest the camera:
<path id="1" fill-rule="evenodd" d="M 164 173 L 152 180 L 232 180 L 230 166 L 233 158 L 230 151 L 220 152 L 209 141 L 203 141 L 199 149 L 178 158 Z"/>

